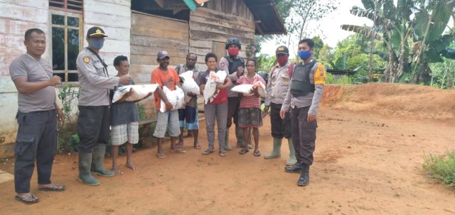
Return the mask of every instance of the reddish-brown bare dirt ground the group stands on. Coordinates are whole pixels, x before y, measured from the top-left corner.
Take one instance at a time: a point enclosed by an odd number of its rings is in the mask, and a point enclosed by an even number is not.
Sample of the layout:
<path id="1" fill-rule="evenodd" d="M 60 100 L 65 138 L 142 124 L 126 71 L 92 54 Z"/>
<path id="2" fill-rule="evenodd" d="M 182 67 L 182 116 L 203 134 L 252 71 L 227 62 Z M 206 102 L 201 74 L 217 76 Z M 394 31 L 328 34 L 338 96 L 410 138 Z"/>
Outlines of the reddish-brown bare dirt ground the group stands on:
<path id="1" fill-rule="evenodd" d="M 38 191 L 35 172 L 31 191 L 41 202 L 25 205 L 14 200 L 14 182 L 0 184 L 0 214 L 455 214 L 455 192 L 421 168 L 424 153 L 454 148 L 454 96 L 400 84 L 327 86 L 307 187 L 284 172 L 287 144 L 281 159 L 264 160 L 272 149 L 267 119 L 261 158 L 238 148 L 225 158 L 200 155 L 186 138 L 188 153 L 159 160 L 156 148 L 139 150 L 138 170 L 122 167 L 123 175 L 100 178 L 97 187 L 76 180 L 77 155 L 58 155 L 53 181 L 67 190 Z M 200 143 L 206 147 L 202 129 Z M 12 163 L 0 169 L 12 173 Z"/>

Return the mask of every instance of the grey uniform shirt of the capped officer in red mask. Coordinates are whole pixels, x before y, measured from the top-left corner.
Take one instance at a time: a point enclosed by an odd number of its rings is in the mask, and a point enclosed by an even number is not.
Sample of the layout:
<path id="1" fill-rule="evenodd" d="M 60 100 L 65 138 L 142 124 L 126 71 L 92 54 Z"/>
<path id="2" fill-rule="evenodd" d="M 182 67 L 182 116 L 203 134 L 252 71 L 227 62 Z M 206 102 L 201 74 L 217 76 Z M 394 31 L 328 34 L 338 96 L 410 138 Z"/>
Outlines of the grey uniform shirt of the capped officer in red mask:
<path id="1" fill-rule="evenodd" d="M 269 81 L 267 82 L 267 97 L 265 97 L 265 105 L 270 106 L 270 103 L 283 104 L 284 99 L 291 84 L 291 76 L 289 75 L 289 62 L 280 67 L 277 65 L 275 70 L 269 72 Z"/>

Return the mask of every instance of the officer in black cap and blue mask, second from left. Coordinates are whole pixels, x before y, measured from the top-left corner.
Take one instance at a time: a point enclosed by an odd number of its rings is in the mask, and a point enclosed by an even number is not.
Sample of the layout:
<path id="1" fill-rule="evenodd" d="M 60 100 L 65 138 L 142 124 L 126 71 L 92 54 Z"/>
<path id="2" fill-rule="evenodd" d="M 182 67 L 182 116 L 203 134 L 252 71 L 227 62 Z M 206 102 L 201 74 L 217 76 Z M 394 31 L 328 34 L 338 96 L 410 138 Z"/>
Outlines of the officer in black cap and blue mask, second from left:
<path id="1" fill-rule="evenodd" d="M 77 135 L 79 143 L 79 180 L 88 185 L 99 185 L 100 181 L 90 174 L 104 177 L 114 176 L 114 172 L 105 170 L 106 144 L 109 140 L 109 89 L 117 85 L 128 85 L 131 79 L 109 77 L 107 65 L 98 55 L 104 45 L 105 31 L 92 27 L 87 31 L 88 47 L 77 55 L 77 72 L 80 82 L 79 118 Z"/>

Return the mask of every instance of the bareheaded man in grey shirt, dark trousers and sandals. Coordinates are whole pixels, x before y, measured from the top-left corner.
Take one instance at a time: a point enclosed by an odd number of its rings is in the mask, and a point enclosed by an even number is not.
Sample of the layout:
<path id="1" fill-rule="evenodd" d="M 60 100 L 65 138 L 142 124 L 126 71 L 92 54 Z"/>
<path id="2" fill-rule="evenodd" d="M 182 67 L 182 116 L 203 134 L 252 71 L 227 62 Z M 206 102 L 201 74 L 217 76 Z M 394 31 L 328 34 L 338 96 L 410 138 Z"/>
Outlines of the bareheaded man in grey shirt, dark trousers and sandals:
<path id="1" fill-rule="evenodd" d="M 47 60 L 41 58 L 45 51 L 45 35 L 38 28 L 25 34 L 27 53 L 16 57 L 9 67 L 9 74 L 18 91 L 19 128 L 14 145 L 14 186 L 16 200 L 25 204 L 39 202 L 30 192 L 33 169 L 38 172 L 38 189 L 63 191 L 64 185 L 50 182 L 50 173 L 57 148 L 57 116 L 63 120 L 62 109 L 55 108 L 54 86 L 60 77 L 52 76 Z"/>

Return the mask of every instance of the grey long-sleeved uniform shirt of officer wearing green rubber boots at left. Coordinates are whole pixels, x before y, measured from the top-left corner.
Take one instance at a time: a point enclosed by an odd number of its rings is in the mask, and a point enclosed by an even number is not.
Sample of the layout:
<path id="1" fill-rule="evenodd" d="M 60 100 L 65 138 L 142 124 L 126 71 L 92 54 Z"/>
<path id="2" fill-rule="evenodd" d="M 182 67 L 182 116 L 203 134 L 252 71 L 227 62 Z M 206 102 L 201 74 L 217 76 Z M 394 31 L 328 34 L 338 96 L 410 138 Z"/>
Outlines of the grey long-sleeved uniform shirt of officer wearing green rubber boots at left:
<path id="1" fill-rule="evenodd" d="M 76 60 L 79 75 L 81 106 L 109 105 L 109 89 L 119 84 L 119 77 L 109 77 L 98 57 L 84 48 Z"/>

